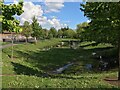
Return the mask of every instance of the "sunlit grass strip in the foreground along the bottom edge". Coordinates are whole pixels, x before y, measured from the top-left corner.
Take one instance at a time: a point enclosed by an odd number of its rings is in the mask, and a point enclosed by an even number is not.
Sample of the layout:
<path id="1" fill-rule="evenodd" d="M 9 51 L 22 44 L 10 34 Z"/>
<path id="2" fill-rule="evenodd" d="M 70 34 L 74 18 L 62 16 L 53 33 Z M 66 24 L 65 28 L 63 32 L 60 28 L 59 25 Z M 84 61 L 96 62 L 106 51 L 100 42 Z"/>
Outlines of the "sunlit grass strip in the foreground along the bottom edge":
<path id="1" fill-rule="evenodd" d="M 110 73 L 111 75 L 113 73 Z M 62 76 L 62 78 L 42 78 L 36 76 L 3 76 L 3 87 L 9 88 L 113 88 L 114 86 L 104 82 L 102 75 Z M 115 88 L 115 87 L 114 87 Z"/>

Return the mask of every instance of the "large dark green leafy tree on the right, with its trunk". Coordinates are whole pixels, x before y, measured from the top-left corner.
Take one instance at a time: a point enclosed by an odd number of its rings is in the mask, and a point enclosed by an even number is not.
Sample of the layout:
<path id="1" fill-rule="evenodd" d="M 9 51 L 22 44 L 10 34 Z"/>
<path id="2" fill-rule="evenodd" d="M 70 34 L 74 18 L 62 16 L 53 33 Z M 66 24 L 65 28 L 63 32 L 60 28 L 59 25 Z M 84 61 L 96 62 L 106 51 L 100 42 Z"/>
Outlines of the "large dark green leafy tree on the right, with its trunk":
<path id="1" fill-rule="evenodd" d="M 87 40 L 112 43 L 118 48 L 120 80 L 120 2 L 87 2 L 81 6 L 84 15 L 91 20 L 85 31 Z"/>

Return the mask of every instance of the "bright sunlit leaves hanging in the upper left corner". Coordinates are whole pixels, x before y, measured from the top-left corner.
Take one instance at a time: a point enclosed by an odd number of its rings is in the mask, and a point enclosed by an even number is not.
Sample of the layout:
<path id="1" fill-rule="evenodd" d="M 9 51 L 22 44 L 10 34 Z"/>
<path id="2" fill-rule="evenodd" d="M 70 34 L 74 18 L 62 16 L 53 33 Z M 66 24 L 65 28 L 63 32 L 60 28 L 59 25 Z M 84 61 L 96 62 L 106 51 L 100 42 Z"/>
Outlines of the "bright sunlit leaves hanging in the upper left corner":
<path id="1" fill-rule="evenodd" d="M 22 10 L 23 2 L 19 2 L 16 4 L 5 5 L 2 4 L 2 29 L 10 32 L 19 32 L 19 21 L 15 19 L 14 15 L 21 15 L 23 13 Z"/>

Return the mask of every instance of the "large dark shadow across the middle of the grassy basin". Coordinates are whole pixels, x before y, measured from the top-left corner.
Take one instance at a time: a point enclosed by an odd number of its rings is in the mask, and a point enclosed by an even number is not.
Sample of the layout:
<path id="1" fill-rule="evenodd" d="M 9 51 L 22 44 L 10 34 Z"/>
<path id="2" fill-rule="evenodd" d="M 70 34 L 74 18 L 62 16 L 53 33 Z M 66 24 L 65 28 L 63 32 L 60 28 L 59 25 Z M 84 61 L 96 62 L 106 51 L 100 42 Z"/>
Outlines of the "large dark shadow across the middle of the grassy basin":
<path id="1" fill-rule="evenodd" d="M 20 57 L 24 57 L 26 62 L 34 64 L 35 67 L 43 71 L 52 71 L 72 62 L 79 57 L 79 50 L 69 48 L 53 48 L 49 51 L 16 51 Z"/>

